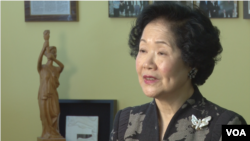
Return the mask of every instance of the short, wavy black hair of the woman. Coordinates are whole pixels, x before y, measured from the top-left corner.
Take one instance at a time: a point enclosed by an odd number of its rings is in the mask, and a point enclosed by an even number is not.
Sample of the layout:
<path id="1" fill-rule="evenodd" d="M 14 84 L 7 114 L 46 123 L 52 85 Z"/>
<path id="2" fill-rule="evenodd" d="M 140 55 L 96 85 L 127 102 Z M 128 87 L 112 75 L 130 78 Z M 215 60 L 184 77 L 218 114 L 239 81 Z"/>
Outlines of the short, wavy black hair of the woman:
<path id="1" fill-rule="evenodd" d="M 174 35 L 177 47 L 181 50 L 185 64 L 198 69 L 192 84 L 203 85 L 212 74 L 216 62 L 220 60 L 219 54 L 223 49 L 220 44 L 219 29 L 213 26 L 209 17 L 197 6 L 191 8 L 166 2 L 144 8 L 129 34 L 130 55 L 136 58 L 145 26 L 159 18 L 170 23 L 168 27 Z"/>

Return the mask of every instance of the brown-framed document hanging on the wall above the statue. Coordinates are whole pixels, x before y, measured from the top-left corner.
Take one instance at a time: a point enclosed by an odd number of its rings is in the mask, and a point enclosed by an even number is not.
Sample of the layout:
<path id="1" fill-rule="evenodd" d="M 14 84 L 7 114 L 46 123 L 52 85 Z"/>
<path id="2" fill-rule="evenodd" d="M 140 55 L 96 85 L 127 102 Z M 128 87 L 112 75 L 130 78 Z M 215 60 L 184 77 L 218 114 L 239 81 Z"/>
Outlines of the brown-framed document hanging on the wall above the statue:
<path id="1" fill-rule="evenodd" d="M 25 0 L 25 21 L 78 21 L 76 0 Z"/>

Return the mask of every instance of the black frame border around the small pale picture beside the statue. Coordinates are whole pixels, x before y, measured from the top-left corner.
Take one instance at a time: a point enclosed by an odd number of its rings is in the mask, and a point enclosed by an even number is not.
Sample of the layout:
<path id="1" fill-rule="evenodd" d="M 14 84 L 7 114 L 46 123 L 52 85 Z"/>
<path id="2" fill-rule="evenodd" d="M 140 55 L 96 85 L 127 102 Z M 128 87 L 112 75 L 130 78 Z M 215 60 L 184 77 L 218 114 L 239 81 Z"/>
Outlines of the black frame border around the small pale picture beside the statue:
<path id="1" fill-rule="evenodd" d="M 66 100 L 60 99 L 59 130 L 66 131 L 66 116 L 98 116 L 98 141 L 107 141 L 113 128 L 116 100 Z"/>

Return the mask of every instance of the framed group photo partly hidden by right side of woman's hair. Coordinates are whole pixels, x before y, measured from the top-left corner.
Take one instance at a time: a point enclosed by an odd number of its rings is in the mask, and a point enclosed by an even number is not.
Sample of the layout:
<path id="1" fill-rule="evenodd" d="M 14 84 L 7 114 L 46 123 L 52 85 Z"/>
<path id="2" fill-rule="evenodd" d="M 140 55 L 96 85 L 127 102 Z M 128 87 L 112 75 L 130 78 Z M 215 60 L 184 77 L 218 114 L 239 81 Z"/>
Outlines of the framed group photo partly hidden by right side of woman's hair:
<path id="1" fill-rule="evenodd" d="M 237 0 L 197 0 L 196 4 L 210 18 L 238 18 Z"/>

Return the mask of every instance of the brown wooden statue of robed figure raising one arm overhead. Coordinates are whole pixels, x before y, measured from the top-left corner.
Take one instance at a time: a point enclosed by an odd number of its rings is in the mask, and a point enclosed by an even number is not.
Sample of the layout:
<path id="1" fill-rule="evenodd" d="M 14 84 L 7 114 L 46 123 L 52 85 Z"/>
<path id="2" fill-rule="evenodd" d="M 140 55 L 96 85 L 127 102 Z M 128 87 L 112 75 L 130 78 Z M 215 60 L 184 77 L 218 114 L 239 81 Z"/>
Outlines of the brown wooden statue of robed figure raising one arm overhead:
<path id="1" fill-rule="evenodd" d="M 45 30 L 43 35 L 45 42 L 37 63 L 37 70 L 40 74 L 38 103 L 43 131 L 41 137 L 38 137 L 37 140 L 65 141 L 59 133 L 58 128 L 60 107 L 57 93 L 57 87 L 59 86 L 58 79 L 64 66 L 56 59 L 56 47 L 49 46 L 50 31 Z M 48 59 L 44 65 L 42 65 L 43 55 Z M 53 66 L 53 62 L 57 63 L 59 67 Z"/>

